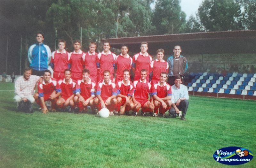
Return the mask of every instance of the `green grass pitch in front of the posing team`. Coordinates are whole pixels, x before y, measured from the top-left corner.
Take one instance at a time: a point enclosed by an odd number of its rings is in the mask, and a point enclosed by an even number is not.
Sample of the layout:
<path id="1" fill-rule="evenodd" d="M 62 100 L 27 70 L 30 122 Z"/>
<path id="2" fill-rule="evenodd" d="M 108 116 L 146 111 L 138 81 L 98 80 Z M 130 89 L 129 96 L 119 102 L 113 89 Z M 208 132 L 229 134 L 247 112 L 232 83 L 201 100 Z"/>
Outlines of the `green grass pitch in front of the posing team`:
<path id="1" fill-rule="evenodd" d="M 190 96 L 186 120 L 16 112 L 0 82 L 0 167 L 231 167 L 215 150 L 256 152 L 256 102 Z M 34 105 L 34 109 L 38 108 Z M 234 167 L 256 167 L 256 158 Z"/>

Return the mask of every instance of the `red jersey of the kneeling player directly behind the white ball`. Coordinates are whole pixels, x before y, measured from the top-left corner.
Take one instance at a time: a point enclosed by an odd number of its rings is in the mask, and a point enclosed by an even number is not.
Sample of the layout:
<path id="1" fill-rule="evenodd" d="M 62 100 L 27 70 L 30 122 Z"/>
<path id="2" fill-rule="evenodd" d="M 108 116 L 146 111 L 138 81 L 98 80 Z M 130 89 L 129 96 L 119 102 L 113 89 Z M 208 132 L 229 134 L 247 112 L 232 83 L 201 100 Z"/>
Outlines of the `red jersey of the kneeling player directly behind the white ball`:
<path id="1" fill-rule="evenodd" d="M 117 95 L 116 84 L 112 80 L 109 80 L 108 83 L 105 83 L 104 80 L 100 80 L 97 86 L 96 95 L 100 95 L 105 102 L 108 97 Z"/>

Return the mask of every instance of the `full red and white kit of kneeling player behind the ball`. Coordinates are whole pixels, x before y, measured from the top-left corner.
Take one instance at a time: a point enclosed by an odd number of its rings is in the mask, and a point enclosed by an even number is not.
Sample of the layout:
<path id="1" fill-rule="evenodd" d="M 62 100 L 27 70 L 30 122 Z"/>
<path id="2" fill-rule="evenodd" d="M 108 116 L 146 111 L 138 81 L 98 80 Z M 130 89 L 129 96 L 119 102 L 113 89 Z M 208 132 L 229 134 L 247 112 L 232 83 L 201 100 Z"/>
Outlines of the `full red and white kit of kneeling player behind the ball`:
<path id="1" fill-rule="evenodd" d="M 117 95 L 116 84 L 112 80 L 109 80 L 108 83 L 105 83 L 104 80 L 100 80 L 98 82 L 96 95 L 100 95 L 102 100 L 106 102 L 108 97 Z M 98 104 L 97 108 L 98 110 L 101 109 L 101 102 Z M 108 108 L 109 111 L 113 111 L 116 110 L 116 105 L 110 103 L 106 108 Z"/>

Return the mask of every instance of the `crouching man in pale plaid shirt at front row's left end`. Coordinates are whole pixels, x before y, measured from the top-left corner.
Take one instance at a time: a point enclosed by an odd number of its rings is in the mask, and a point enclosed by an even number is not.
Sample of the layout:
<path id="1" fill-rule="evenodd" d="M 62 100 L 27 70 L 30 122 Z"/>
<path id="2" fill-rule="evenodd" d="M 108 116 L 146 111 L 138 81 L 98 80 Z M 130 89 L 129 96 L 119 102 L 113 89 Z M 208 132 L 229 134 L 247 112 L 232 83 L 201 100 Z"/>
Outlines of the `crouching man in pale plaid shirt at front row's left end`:
<path id="1" fill-rule="evenodd" d="M 20 76 L 15 82 L 15 96 L 14 100 L 18 103 L 18 111 L 33 113 L 33 103 L 35 98 L 33 96 L 36 83 L 39 76 L 31 75 L 32 69 L 25 68 L 23 76 Z"/>

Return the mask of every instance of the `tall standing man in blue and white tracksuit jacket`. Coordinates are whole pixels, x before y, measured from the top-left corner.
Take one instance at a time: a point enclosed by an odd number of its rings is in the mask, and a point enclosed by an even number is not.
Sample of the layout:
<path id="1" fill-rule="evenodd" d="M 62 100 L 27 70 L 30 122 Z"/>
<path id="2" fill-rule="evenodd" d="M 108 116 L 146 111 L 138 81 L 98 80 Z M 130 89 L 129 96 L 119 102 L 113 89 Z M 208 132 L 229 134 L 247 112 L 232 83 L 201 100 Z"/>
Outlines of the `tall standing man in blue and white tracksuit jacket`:
<path id="1" fill-rule="evenodd" d="M 43 43 L 44 33 L 37 33 L 36 41 L 36 44 L 31 45 L 28 49 L 28 61 L 33 75 L 42 76 L 50 64 L 52 53 L 50 48 Z"/>

